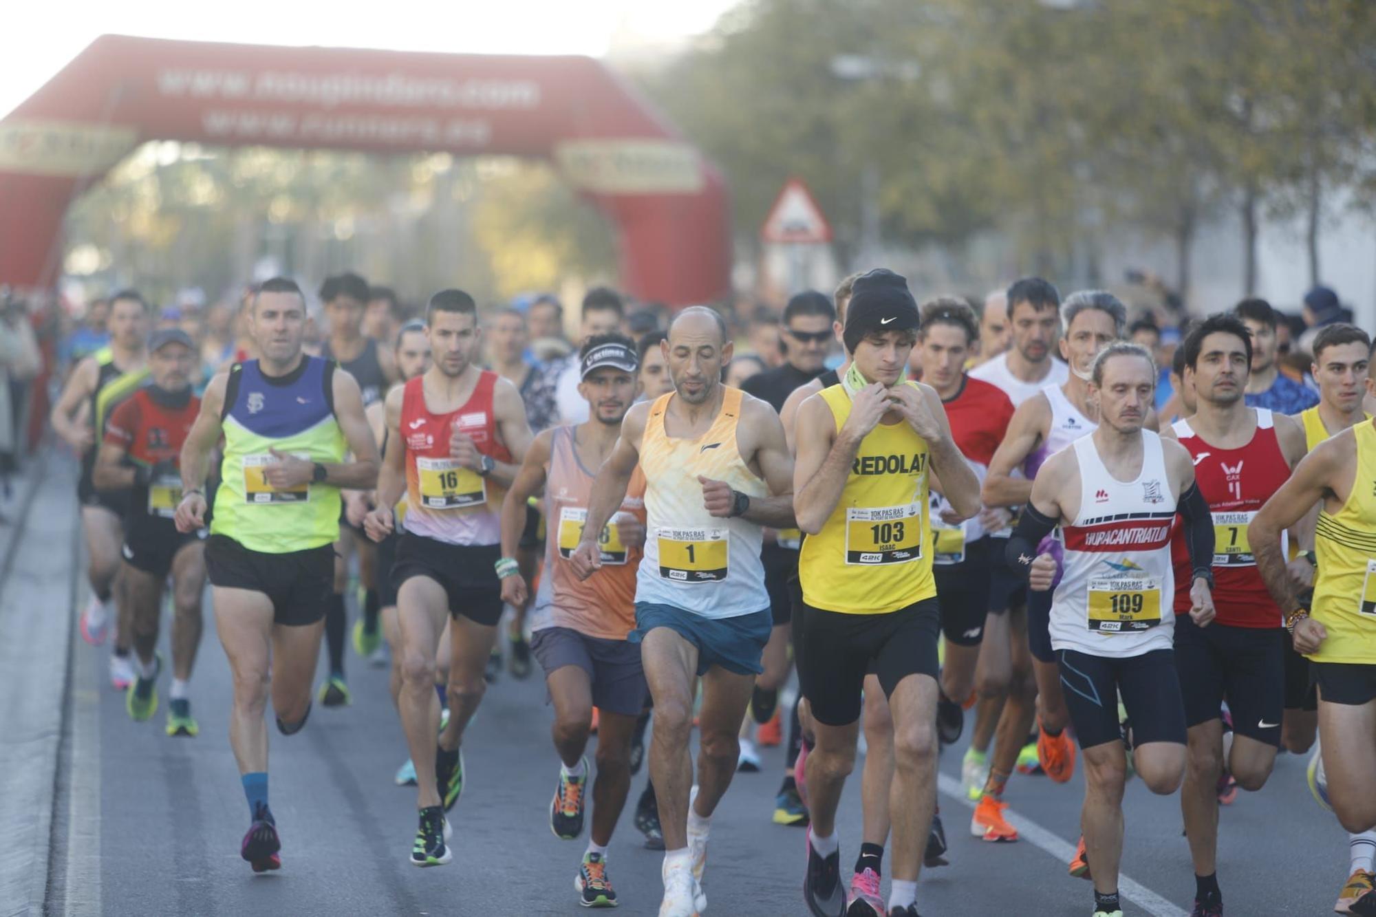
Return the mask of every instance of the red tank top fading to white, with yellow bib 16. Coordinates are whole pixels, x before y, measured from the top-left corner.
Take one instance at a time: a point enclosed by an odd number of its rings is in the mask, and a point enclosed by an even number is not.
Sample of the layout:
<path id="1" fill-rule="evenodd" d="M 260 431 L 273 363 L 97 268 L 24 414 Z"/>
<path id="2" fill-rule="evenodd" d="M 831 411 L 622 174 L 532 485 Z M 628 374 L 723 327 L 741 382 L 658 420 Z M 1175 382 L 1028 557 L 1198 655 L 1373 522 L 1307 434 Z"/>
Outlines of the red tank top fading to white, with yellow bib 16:
<path id="1" fill-rule="evenodd" d="M 406 441 L 406 530 L 462 545 L 501 541 L 501 507 L 505 489 L 464 468 L 449 454 L 454 430 L 468 434 L 484 456 L 510 461 L 497 439 L 493 390 L 497 373 L 486 369 L 468 401 L 447 413 L 425 406 L 425 376 L 406 383 L 402 391 L 402 436 Z"/>

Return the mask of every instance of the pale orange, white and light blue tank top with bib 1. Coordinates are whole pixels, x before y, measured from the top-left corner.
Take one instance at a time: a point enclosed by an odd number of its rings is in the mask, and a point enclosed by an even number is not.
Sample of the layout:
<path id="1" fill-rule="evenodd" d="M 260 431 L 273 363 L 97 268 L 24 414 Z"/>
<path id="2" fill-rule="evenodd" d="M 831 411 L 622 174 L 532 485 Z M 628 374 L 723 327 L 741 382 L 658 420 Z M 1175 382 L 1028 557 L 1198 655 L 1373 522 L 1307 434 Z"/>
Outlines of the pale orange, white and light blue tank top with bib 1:
<path id="1" fill-rule="evenodd" d="M 688 439 L 665 432 L 669 401 L 649 406 L 640 441 L 645 474 L 645 556 L 636 577 L 636 602 L 669 604 L 705 618 L 732 618 L 769 607 L 760 562 L 761 526 L 720 519 L 702 503 L 698 475 L 724 481 L 750 497 L 769 489 L 740 457 L 736 427 L 742 391 L 722 386 L 721 410 L 711 427 Z"/>

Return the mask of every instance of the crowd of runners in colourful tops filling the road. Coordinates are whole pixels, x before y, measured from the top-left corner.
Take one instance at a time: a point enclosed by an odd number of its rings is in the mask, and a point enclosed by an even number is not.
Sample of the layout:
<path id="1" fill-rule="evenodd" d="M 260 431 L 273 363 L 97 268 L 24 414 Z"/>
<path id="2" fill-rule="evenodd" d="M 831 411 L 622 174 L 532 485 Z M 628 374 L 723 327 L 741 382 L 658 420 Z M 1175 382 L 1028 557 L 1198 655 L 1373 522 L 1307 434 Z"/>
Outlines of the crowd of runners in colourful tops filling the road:
<path id="1" fill-rule="evenodd" d="M 480 310 L 444 289 L 407 321 L 341 274 L 318 300 L 268 280 L 211 336 L 121 291 L 51 412 L 83 458 L 80 632 L 111 644 L 129 717 L 165 709 L 169 737 L 200 731 L 211 585 L 253 872 L 283 866 L 267 712 L 290 737 L 314 704 L 348 706 L 352 644 L 391 669 L 417 808 L 396 847 L 417 866 L 453 861 L 465 730 L 534 660 L 549 828 L 586 830 L 568 870 L 588 907 L 655 906 L 618 899 L 607 856 L 645 766 L 633 826 L 663 850 L 658 913 L 706 913 L 713 814 L 755 744 L 783 744 L 772 818 L 806 830 L 801 896 L 713 913 L 915 917 L 949 854 L 937 756 L 969 719 L 976 837 L 1018 840 L 1014 774 L 1083 768 L 1066 869 L 1094 917 L 1123 913 L 1132 775 L 1179 793 L 1192 913 L 1222 914 L 1219 805 L 1282 750 L 1310 755 L 1351 832 L 1335 910 L 1376 914 L 1364 330 L 1325 322 L 1296 380 L 1262 300 L 1194 321 L 1159 368 L 1161 332 L 1113 293 L 1040 278 L 919 304 L 899 274 L 852 275 L 788 300 L 777 361 L 738 355 L 710 307 L 605 288 L 574 341 L 549 296 Z M 842 844 L 861 730 L 863 832 Z"/>

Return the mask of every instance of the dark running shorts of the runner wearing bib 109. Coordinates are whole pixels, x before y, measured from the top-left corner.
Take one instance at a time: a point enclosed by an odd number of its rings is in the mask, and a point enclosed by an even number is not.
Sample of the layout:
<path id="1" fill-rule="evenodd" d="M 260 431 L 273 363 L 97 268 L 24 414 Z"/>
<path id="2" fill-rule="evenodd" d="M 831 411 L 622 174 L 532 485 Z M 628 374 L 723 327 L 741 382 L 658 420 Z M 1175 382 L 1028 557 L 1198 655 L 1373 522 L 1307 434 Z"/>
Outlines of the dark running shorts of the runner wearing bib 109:
<path id="1" fill-rule="evenodd" d="M 1057 650 L 1061 687 L 1080 748 L 1123 739 L 1119 728 L 1119 695 L 1132 723 L 1132 745 L 1176 742 L 1185 745 L 1185 706 L 1175 675 L 1175 653 L 1152 650 L 1142 655 L 1112 658 L 1075 650 Z"/>

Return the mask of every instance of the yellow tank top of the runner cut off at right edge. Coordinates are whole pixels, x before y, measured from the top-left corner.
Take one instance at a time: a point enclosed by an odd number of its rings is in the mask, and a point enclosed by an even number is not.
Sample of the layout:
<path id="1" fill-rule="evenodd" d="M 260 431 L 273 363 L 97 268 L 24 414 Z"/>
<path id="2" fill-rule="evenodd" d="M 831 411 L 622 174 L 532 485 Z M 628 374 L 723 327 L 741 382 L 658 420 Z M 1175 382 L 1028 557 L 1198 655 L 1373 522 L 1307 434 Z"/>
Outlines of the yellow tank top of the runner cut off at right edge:
<path id="1" fill-rule="evenodd" d="M 1314 530 L 1314 603 L 1310 614 L 1328 631 L 1315 662 L 1376 664 L 1376 425 L 1353 428 L 1357 475 L 1343 508 L 1320 509 Z"/>

